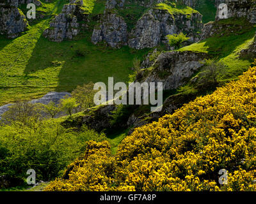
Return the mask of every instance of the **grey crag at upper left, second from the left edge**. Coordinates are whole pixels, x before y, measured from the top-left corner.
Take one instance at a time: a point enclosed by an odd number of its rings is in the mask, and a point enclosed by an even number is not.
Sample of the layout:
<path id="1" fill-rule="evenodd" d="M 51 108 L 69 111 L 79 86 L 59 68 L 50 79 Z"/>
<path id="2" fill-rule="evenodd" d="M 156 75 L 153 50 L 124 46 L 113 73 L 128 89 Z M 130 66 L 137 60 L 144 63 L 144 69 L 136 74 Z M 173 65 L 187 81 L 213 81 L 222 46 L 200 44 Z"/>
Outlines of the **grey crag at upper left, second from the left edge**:
<path id="1" fill-rule="evenodd" d="M 83 1 L 70 0 L 65 4 L 59 15 L 51 22 L 49 28 L 45 29 L 44 36 L 50 41 L 72 40 L 80 31 L 79 20 L 84 20 L 88 15 L 83 15 L 81 6 Z"/>

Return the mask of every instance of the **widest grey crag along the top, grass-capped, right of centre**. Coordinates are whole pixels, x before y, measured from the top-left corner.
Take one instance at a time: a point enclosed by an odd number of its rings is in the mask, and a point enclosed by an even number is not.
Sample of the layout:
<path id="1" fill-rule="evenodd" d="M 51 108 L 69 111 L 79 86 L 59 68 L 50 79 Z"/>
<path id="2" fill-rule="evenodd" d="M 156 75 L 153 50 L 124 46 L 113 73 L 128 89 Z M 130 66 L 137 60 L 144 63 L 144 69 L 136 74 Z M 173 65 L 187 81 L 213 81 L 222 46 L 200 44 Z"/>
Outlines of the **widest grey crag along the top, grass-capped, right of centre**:
<path id="1" fill-rule="evenodd" d="M 199 40 L 197 31 L 202 29 L 202 15 L 193 13 L 191 17 L 182 13 L 172 15 L 167 10 L 150 10 L 138 20 L 129 35 L 129 47 L 151 48 L 165 42 L 168 34 L 186 33 L 189 41 Z"/>

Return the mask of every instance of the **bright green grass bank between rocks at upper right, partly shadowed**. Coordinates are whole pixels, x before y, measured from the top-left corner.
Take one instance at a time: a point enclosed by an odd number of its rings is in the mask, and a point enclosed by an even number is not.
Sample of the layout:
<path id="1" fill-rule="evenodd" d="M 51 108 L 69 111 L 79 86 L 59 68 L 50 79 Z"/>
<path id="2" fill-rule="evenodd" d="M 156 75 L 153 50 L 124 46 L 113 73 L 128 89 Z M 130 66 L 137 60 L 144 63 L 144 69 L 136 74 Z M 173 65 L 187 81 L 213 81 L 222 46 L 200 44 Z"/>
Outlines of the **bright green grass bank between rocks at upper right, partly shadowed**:
<path id="1" fill-rule="evenodd" d="M 252 64 L 251 59 L 243 59 L 239 56 L 241 50 L 248 48 L 252 43 L 256 29 L 246 23 L 243 19 L 237 20 L 236 18 L 220 20 L 218 25 L 228 24 L 228 26 L 241 27 L 237 33 L 226 33 L 224 35 L 216 34 L 211 38 L 193 43 L 187 47 L 182 47 L 178 51 L 193 51 L 204 52 L 209 54 L 209 57 L 216 59 L 216 61 L 223 62 L 227 66 L 227 74 L 221 77 L 223 81 L 237 80 Z M 243 25 L 241 25 L 243 24 Z M 216 25 L 216 26 L 218 26 Z M 225 31 L 228 31 L 225 30 Z M 223 33 L 225 33 L 223 31 Z"/>

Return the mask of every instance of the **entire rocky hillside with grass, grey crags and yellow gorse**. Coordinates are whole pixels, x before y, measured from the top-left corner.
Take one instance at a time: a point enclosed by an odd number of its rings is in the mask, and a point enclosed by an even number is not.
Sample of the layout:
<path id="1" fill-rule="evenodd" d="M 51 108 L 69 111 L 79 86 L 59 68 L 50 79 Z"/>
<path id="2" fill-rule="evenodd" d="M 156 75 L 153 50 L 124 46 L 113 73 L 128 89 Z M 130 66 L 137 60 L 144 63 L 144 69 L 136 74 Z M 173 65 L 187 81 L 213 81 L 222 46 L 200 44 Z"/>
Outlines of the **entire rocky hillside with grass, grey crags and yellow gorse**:
<path id="1" fill-rule="evenodd" d="M 254 0 L 0 0 L 0 189 L 255 191 L 255 26 Z M 109 77 L 161 110 L 95 106 Z"/>

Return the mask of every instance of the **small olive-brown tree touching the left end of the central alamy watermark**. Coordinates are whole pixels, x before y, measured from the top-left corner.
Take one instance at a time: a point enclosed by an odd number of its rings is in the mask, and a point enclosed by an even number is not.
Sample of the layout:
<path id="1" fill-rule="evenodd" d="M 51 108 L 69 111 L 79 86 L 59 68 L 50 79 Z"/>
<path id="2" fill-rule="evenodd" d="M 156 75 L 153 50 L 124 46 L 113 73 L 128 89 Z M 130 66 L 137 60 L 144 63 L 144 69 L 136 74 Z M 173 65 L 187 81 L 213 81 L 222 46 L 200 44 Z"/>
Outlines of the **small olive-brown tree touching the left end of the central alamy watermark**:
<path id="1" fill-rule="evenodd" d="M 96 91 L 93 90 L 93 85 L 93 82 L 84 84 L 83 87 L 78 85 L 77 88 L 72 91 L 71 95 L 76 99 L 80 111 L 86 110 L 87 108 L 95 105 L 93 97 Z"/>

